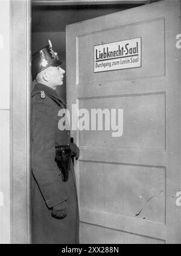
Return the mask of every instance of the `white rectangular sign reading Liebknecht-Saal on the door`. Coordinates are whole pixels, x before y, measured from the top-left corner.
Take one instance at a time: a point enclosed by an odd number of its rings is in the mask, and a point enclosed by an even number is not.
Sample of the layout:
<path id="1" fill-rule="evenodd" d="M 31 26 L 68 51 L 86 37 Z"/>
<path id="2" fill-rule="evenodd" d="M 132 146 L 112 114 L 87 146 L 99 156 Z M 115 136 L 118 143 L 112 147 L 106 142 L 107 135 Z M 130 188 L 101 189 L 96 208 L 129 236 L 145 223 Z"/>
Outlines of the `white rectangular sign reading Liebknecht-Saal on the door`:
<path id="1" fill-rule="evenodd" d="M 94 73 L 141 67 L 141 38 L 94 45 Z"/>

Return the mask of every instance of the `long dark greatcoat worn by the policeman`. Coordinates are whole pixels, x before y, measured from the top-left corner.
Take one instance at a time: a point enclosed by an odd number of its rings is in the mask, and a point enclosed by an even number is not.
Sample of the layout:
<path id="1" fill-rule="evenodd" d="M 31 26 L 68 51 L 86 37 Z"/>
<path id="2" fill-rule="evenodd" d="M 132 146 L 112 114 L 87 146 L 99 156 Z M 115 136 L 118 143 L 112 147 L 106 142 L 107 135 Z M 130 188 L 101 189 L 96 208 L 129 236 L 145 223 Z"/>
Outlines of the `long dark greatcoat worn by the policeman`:
<path id="1" fill-rule="evenodd" d="M 46 85 L 34 86 L 31 96 L 31 206 L 32 243 L 79 243 L 78 201 L 74 166 L 71 162 L 69 180 L 55 162 L 55 146 L 70 142 L 69 131 L 60 131 L 59 110 L 65 102 Z M 68 203 L 63 219 L 51 216 L 52 206 Z"/>

